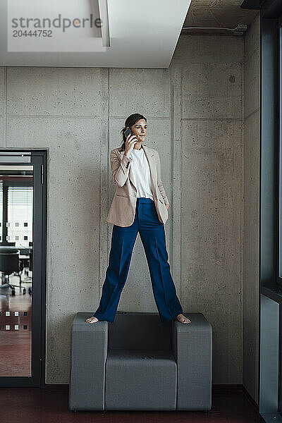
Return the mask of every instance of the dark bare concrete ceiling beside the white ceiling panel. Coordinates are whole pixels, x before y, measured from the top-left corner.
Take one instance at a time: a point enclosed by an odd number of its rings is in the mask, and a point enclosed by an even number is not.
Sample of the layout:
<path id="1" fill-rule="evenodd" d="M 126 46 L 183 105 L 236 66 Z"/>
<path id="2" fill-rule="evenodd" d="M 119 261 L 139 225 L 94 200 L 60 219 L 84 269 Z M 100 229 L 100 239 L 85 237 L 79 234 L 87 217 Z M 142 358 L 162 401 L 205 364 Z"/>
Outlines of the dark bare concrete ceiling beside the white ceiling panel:
<path id="1" fill-rule="evenodd" d="M 257 10 L 240 8 L 243 0 L 192 0 L 183 27 L 236 27 L 239 23 L 250 25 Z M 183 30 L 185 34 L 201 30 Z M 223 30 L 202 30 L 204 33 L 228 34 Z"/>

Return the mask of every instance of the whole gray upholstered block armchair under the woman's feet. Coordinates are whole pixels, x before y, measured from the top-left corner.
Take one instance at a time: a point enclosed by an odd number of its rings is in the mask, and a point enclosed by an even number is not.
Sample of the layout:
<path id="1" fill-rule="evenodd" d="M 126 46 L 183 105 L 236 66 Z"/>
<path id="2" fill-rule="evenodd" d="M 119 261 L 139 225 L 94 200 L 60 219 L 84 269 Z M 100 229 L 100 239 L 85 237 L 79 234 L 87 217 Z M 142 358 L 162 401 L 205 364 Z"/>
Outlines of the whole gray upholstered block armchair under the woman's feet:
<path id="1" fill-rule="evenodd" d="M 71 326 L 68 406 L 76 410 L 210 410 L 212 326 L 202 313 L 161 323 L 158 313 L 118 312 L 114 323 Z"/>

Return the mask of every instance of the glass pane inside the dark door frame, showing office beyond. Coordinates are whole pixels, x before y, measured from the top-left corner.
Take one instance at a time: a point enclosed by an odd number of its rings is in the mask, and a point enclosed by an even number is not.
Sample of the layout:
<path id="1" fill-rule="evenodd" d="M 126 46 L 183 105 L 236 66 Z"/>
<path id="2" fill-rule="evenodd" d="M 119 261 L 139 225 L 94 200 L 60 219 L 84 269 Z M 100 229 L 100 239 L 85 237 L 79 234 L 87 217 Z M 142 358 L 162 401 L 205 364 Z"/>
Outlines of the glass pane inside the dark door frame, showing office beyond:
<path id="1" fill-rule="evenodd" d="M 33 166 L 0 165 L 0 376 L 32 376 Z"/>

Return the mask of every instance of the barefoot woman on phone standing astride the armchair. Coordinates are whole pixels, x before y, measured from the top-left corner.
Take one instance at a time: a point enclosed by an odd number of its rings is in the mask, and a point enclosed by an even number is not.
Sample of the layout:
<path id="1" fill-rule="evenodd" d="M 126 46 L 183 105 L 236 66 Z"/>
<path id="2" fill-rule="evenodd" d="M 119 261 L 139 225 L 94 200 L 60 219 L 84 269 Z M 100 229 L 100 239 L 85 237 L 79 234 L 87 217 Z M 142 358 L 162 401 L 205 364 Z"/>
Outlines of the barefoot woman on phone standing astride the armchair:
<path id="1" fill-rule="evenodd" d="M 126 128 L 133 135 L 125 138 Z M 169 203 L 161 182 L 159 153 L 144 144 L 147 119 L 140 114 L 128 116 L 121 133 L 123 145 L 112 149 L 110 157 L 117 188 L 106 219 L 114 224 L 109 266 L 99 307 L 85 322 L 114 321 L 139 232 L 161 321 L 177 318 L 181 323 L 190 323 L 183 316 L 168 264 L 164 223 L 168 219 Z"/>

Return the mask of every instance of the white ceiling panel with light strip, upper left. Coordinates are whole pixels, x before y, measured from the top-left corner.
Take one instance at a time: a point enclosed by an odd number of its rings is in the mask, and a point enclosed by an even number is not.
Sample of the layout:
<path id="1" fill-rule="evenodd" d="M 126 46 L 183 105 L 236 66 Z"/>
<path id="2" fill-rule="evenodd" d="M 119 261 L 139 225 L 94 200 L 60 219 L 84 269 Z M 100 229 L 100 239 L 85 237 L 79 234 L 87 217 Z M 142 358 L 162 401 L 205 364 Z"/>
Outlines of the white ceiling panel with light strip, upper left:
<path id="1" fill-rule="evenodd" d="M 0 0 L 0 66 L 168 68 L 190 1 Z M 102 18 L 102 30 L 90 27 L 91 13 L 92 20 Z M 43 18 L 51 26 L 43 26 Z M 51 37 L 39 39 L 35 30 Z M 30 35 L 16 39 L 18 31 Z"/>

